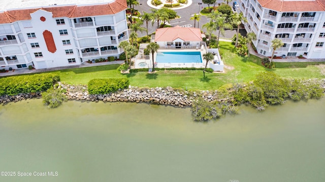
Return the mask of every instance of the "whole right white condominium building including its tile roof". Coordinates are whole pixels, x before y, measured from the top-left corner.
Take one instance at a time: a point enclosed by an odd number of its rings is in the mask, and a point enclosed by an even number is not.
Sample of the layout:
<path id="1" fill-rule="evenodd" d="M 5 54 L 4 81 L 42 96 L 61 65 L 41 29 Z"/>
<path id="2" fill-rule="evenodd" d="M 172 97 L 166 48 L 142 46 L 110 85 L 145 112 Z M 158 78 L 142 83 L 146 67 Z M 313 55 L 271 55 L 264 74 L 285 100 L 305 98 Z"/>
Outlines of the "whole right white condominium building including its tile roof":
<path id="1" fill-rule="evenodd" d="M 247 17 L 257 53 L 272 56 L 272 43 L 281 39 L 276 56 L 325 58 L 325 0 L 237 0 L 237 12 Z"/>

